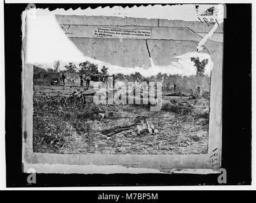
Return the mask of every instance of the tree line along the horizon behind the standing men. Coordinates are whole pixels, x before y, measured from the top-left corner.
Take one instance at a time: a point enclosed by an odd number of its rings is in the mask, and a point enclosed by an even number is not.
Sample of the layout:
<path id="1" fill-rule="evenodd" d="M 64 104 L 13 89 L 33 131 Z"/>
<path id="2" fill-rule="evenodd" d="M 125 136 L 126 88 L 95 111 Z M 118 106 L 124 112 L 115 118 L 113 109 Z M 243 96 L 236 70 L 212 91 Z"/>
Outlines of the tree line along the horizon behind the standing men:
<path id="1" fill-rule="evenodd" d="M 196 88 L 196 86 L 202 86 L 205 89 L 210 91 L 210 77 L 204 75 L 205 66 L 208 63 L 208 59 L 200 62 L 199 58 L 191 58 L 191 61 L 194 62 L 194 66 L 197 69 L 196 75 L 182 76 L 179 74 L 162 74 L 161 72 L 158 75 L 152 75 L 150 77 L 144 77 L 140 72 L 135 72 L 134 74 L 115 74 L 116 79 L 124 82 L 132 82 L 139 80 L 141 82 L 163 82 L 163 90 L 170 91 L 172 90 L 173 84 L 175 83 L 178 89 L 184 91 L 189 91 L 191 88 Z M 79 63 L 79 68 L 76 67 L 75 63 L 67 63 L 65 65 L 65 70 L 59 70 L 60 62 L 55 62 L 53 69 L 43 69 L 39 66 L 34 66 L 34 74 L 41 73 L 50 73 L 50 72 L 67 72 L 67 73 L 79 73 L 79 74 L 108 74 L 108 68 L 103 66 L 100 71 L 98 71 L 98 65 L 95 65 L 90 62 Z"/>

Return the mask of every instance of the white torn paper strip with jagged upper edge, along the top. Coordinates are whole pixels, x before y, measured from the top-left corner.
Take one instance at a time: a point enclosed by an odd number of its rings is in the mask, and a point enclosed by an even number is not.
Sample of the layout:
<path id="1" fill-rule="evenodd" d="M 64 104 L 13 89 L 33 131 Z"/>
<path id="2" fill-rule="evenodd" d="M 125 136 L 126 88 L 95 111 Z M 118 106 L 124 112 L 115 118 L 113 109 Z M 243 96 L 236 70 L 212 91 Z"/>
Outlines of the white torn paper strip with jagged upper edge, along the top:
<path id="1" fill-rule="evenodd" d="M 200 8 L 203 7 L 203 10 L 207 8 L 214 7 L 217 11 L 214 15 L 203 15 L 205 18 L 217 18 L 219 23 L 223 22 L 224 18 L 224 4 L 175 4 L 175 5 L 141 5 L 141 6 L 98 6 L 97 8 L 88 7 L 86 9 L 81 9 L 81 7 L 73 10 L 64 10 L 63 8 L 57 8 L 50 11 L 49 8 L 41 9 L 30 8 L 30 12 L 39 13 L 39 15 L 86 15 L 86 16 L 116 16 L 122 18 L 147 18 L 147 19 L 166 19 L 166 20 L 184 20 L 184 21 L 200 21 L 198 16 L 201 16 L 201 13 L 198 13 L 196 10 L 196 5 Z M 157 10 L 162 10 L 163 12 L 159 13 Z M 184 17 L 184 13 L 186 14 Z"/>

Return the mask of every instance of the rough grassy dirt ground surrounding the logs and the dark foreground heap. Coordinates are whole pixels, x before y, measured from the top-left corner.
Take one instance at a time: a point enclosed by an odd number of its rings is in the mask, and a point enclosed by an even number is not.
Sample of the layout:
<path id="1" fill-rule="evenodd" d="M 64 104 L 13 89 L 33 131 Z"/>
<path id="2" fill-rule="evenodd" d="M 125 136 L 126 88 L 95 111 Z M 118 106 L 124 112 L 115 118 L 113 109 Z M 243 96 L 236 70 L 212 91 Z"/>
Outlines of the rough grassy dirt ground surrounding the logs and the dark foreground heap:
<path id="1" fill-rule="evenodd" d="M 113 114 L 100 119 L 77 117 L 87 114 L 80 107 L 64 105 L 72 86 L 34 86 L 34 152 L 59 154 L 206 154 L 208 150 L 207 98 L 164 96 L 163 101 L 193 104 L 192 114 L 172 110 L 151 112 L 141 105 L 113 107 Z M 88 91 L 90 92 L 90 90 Z M 50 103 L 49 103 L 50 102 Z M 54 106 L 54 107 L 53 107 Z M 137 134 L 133 129 L 106 138 L 102 131 L 133 124 L 138 115 L 150 115 L 158 133 Z M 47 138 L 47 139 L 46 139 Z"/>

